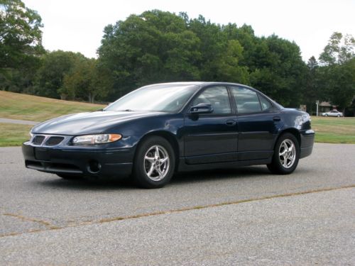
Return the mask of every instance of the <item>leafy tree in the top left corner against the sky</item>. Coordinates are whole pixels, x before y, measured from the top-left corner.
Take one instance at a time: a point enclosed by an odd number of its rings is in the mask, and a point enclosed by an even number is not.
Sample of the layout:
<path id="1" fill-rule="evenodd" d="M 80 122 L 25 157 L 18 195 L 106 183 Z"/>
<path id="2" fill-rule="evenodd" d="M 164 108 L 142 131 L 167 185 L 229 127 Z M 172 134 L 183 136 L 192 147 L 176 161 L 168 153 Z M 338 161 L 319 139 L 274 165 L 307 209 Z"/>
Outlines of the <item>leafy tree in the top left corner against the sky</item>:
<path id="1" fill-rule="evenodd" d="M 0 3 L 0 72 L 19 68 L 28 57 L 43 52 L 41 18 L 21 0 Z"/>

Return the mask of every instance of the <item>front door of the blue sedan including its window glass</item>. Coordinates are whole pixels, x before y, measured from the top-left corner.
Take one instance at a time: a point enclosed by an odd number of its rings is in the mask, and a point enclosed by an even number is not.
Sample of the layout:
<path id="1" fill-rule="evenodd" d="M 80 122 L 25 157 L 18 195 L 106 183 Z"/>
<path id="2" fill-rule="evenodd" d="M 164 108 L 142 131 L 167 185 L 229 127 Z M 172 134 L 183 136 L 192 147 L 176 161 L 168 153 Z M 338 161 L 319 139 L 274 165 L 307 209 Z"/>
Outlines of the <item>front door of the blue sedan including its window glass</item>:
<path id="1" fill-rule="evenodd" d="M 238 126 L 224 86 L 204 89 L 193 101 L 211 104 L 212 113 L 185 114 L 185 160 L 187 164 L 236 160 Z"/>

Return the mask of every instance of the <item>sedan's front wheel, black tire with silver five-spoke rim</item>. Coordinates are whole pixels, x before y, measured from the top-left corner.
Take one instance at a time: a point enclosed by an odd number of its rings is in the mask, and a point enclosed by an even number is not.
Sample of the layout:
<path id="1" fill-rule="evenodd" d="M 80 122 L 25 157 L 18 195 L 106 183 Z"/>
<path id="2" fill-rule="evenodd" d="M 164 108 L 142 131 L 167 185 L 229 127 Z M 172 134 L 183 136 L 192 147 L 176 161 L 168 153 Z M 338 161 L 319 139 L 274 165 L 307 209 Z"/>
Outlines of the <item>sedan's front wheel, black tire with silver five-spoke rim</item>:
<path id="1" fill-rule="evenodd" d="M 165 160 L 166 157 L 168 159 Z M 134 157 L 133 179 L 139 187 L 164 187 L 173 177 L 174 170 L 175 155 L 168 140 L 151 136 L 138 145 Z"/>

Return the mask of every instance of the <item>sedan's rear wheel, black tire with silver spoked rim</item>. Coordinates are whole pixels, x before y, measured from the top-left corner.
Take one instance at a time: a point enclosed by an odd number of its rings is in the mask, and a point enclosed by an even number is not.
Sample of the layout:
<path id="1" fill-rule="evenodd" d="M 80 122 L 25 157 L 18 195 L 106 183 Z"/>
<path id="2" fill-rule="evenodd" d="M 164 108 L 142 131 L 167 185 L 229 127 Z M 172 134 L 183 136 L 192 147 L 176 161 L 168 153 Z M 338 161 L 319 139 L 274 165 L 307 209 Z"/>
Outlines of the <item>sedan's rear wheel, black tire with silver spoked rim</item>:
<path id="1" fill-rule="evenodd" d="M 291 148 L 292 144 L 294 149 Z M 285 148 L 288 148 L 288 151 L 286 155 L 282 155 Z M 290 174 L 295 171 L 298 160 L 300 160 L 300 144 L 297 138 L 291 133 L 284 133 L 276 142 L 273 160 L 271 164 L 267 165 L 268 170 L 273 174 Z"/>

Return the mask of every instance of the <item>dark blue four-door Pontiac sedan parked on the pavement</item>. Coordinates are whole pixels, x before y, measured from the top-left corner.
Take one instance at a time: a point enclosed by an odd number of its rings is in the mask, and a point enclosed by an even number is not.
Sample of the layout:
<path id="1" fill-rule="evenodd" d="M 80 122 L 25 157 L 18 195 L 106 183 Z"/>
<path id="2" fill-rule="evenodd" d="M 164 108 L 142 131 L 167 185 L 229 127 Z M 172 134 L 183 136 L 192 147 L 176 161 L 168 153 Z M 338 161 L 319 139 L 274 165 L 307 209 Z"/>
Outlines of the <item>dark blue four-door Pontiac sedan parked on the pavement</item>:
<path id="1" fill-rule="evenodd" d="M 129 176 L 163 187 L 174 172 L 267 165 L 290 174 L 312 153 L 310 116 L 241 84 L 153 84 L 105 109 L 40 123 L 26 167 L 78 177 Z"/>

